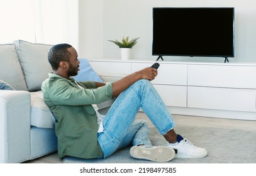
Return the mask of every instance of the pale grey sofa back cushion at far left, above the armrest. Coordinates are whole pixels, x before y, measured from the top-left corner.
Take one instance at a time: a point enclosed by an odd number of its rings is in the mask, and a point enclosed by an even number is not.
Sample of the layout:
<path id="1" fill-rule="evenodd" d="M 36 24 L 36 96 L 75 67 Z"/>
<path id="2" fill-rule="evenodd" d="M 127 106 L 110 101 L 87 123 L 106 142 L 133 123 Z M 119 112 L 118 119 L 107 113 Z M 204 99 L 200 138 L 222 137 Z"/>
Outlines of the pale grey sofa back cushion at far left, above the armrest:
<path id="1" fill-rule="evenodd" d="M 0 79 L 18 91 L 27 91 L 14 44 L 0 45 Z"/>

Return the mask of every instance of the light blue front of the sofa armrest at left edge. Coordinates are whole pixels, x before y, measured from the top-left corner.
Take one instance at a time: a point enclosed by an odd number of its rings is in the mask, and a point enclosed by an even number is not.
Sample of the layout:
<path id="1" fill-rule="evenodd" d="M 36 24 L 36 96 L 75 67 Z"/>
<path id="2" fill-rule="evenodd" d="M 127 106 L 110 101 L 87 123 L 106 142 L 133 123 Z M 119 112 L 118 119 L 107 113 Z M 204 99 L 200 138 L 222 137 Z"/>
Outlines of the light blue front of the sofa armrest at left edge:
<path id="1" fill-rule="evenodd" d="M 0 90 L 0 163 L 30 159 L 30 92 Z"/>

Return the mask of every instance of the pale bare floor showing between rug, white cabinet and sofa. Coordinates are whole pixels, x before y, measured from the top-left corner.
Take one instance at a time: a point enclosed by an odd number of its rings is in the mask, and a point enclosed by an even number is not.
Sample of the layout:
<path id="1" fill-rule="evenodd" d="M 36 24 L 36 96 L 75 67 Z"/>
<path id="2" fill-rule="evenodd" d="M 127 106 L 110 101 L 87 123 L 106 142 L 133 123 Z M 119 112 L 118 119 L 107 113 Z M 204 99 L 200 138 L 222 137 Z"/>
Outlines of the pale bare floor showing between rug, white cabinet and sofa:
<path id="1" fill-rule="evenodd" d="M 243 129 L 256 132 L 256 121 L 180 115 L 173 115 L 173 117 L 175 119 L 176 124 L 184 126 L 219 126 L 221 128 Z M 148 121 L 148 118 L 147 116 L 145 116 L 144 113 L 138 113 L 137 118 L 146 119 Z M 153 124 L 150 121 L 148 121 L 148 126 L 152 127 Z M 45 157 L 37 158 L 35 160 L 27 161 L 25 163 L 62 163 L 62 161 L 58 158 L 57 153 L 52 153 Z"/>

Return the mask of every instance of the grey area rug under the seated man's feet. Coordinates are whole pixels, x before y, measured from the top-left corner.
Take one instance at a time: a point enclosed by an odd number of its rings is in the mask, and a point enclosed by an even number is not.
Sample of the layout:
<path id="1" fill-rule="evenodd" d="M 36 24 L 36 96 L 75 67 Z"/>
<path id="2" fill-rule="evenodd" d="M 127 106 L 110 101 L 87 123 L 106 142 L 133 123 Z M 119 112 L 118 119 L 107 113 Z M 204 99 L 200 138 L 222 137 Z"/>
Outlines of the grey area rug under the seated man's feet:
<path id="1" fill-rule="evenodd" d="M 208 150 L 205 158 L 174 158 L 168 163 L 256 163 L 256 133 L 223 128 L 179 127 L 176 133 L 181 134 L 194 145 Z M 157 129 L 150 128 L 150 140 L 155 146 L 167 145 Z M 129 154 L 130 147 L 116 151 L 105 159 L 85 160 L 66 157 L 64 163 L 155 163 L 148 160 L 138 160 Z"/>

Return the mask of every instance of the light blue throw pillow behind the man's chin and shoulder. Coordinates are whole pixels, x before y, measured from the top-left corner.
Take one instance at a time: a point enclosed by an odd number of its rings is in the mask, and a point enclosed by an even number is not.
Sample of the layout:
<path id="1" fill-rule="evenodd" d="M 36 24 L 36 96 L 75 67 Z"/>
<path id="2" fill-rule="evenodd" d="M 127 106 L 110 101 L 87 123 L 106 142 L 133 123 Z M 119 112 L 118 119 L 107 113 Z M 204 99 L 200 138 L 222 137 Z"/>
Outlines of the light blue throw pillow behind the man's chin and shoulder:
<path id="1" fill-rule="evenodd" d="M 84 82 L 84 81 L 95 81 L 95 82 L 103 82 L 103 80 L 97 75 L 97 73 L 92 69 L 90 63 L 86 58 L 79 58 L 80 64 L 77 75 L 75 75 L 73 78 L 75 80 Z"/>

